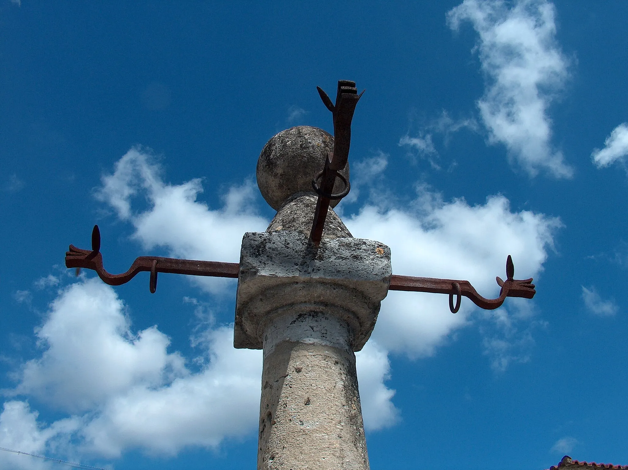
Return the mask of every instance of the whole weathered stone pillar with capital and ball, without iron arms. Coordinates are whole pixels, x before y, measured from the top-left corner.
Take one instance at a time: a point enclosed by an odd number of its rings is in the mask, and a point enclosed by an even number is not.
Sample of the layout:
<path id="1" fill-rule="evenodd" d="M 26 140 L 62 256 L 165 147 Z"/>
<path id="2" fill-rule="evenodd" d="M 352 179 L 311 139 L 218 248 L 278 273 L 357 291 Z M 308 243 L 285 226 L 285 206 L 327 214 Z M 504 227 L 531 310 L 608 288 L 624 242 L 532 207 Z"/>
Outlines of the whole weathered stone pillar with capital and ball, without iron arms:
<path id="1" fill-rule="evenodd" d="M 236 297 L 234 346 L 264 350 L 258 469 L 369 468 L 354 351 L 387 294 L 390 250 L 352 238 L 333 210 L 320 247 L 308 244 L 317 171 L 301 178 L 308 189 L 276 164 L 305 162 L 293 166 L 295 175 L 322 169 L 329 137 L 311 127 L 281 132 L 257 165 L 264 198 L 281 202 L 267 232 L 244 235 Z"/>

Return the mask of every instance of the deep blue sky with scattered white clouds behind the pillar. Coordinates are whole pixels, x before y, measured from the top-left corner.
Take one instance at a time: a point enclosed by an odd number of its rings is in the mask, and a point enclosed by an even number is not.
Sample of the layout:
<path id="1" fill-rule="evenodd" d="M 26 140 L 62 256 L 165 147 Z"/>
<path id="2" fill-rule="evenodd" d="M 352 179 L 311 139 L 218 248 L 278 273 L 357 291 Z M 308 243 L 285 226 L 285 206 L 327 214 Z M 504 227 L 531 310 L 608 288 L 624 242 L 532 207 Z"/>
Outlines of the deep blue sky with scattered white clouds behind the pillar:
<path id="1" fill-rule="evenodd" d="M 0 447 L 111 469 L 256 461 L 259 351 L 236 282 L 75 277 L 99 224 L 139 255 L 237 262 L 274 213 L 257 156 L 332 130 L 316 86 L 366 92 L 338 206 L 393 272 L 506 256 L 533 301 L 391 292 L 357 355 L 372 469 L 628 464 L 628 3 L 1 0 Z M 60 464 L 0 454 L 0 469 Z"/>

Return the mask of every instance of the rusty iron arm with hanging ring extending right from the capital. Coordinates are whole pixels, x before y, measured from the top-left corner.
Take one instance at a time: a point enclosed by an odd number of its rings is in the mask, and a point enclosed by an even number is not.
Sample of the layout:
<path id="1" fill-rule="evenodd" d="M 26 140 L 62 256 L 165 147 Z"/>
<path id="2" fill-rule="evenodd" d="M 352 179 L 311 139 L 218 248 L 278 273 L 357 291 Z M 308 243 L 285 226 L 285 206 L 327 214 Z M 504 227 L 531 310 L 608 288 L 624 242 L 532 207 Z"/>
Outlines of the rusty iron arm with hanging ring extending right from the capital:
<path id="1" fill-rule="evenodd" d="M 465 296 L 471 299 L 475 305 L 486 310 L 493 310 L 504 303 L 506 297 L 524 297 L 531 299 L 536 294 L 532 278 L 512 279 L 514 276 L 514 265 L 512 258 L 508 255 L 506 260 L 506 280 L 500 277 L 495 278 L 497 284 L 502 288 L 497 299 L 486 299 L 480 296 L 468 280 L 455 279 L 434 279 L 432 277 L 413 277 L 395 275 L 391 277 L 390 291 L 413 291 L 431 292 L 433 294 L 449 294 L 449 308 L 455 313 L 460 309 L 460 297 Z M 453 305 L 453 296 L 457 296 L 456 305 Z"/>

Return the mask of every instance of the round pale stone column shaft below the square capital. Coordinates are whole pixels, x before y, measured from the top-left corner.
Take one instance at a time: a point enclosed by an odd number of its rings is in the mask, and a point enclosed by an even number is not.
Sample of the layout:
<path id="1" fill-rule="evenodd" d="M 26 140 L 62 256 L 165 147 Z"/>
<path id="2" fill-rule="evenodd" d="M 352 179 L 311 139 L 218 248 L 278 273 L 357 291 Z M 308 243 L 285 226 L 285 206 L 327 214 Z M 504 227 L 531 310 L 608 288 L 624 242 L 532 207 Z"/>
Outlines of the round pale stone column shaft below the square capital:
<path id="1" fill-rule="evenodd" d="M 369 469 L 351 337 L 324 313 L 268 324 L 258 469 Z"/>

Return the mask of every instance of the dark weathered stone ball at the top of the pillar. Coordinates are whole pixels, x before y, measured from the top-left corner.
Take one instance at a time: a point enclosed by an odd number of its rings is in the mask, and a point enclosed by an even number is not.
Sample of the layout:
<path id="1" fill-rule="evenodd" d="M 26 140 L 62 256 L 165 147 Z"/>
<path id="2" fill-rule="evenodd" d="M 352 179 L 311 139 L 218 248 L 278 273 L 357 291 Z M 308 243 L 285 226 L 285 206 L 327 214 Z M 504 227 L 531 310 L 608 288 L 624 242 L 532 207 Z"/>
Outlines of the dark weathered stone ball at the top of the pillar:
<path id="1" fill-rule="evenodd" d="M 325 158 L 332 152 L 333 136 L 318 127 L 291 127 L 272 137 L 257 160 L 257 186 L 266 202 L 279 210 L 296 193 L 316 194 L 311 181 L 323 171 Z M 349 164 L 340 173 L 348 180 Z M 333 191 L 343 189 L 342 181 L 336 181 Z"/>

